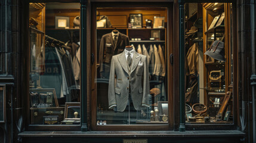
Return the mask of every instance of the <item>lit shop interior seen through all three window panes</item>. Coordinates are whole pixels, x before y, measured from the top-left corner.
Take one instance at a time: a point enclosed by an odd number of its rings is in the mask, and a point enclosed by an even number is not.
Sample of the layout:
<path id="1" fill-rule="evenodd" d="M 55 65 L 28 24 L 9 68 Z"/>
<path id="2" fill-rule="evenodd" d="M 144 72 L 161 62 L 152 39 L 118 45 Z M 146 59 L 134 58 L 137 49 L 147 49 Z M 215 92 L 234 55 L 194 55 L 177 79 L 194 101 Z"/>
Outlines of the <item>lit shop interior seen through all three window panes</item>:
<path id="1" fill-rule="evenodd" d="M 186 123 L 233 123 L 232 4 L 184 6 Z M 168 9 L 98 7 L 92 14 L 92 120 L 100 126 L 168 124 Z M 32 125 L 80 124 L 79 15 L 79 3 L 29 4 Z M 118 61 L 126 51 L 136 56 Z M 126 64 L 131 73 L 120 78 Z"/>

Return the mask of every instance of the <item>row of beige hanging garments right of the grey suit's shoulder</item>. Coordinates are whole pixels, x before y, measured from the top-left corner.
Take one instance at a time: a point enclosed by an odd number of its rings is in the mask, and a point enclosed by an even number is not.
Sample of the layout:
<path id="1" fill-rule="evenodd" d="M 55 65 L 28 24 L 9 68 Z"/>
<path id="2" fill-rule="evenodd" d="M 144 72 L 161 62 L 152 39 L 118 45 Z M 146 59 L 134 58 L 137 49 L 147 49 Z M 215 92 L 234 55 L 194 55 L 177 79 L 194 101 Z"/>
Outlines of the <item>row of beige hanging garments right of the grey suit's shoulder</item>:
<path id="1" fill-rule="evenodd" d="M 165 76 L 165 58 L 161 45 L 156 46 L 156 44 L 151 44 L 146 48 L 144 44 L 142 46 L 138 44 L 137 48 L 134 45 L 132 47 L 138 54 L 146 55 L 150 75 Z"/>

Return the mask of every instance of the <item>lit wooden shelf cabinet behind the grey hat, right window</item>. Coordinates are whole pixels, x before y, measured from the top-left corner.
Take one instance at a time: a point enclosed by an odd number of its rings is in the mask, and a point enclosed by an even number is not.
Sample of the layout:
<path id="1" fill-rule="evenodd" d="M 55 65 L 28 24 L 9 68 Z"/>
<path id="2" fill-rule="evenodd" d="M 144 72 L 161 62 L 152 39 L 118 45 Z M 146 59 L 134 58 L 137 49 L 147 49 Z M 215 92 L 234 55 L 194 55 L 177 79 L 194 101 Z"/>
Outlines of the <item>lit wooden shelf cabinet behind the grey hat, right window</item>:
<path id="1" fill-rule="evenodd" d="M 204 55 L 204 103 L 208 106 L 209 116 L 216 115 L 223 105 L 225 93 L 229 91 L 229 78 L 232 74 L 230 67 L 229 52 L 232 49 L 230 41 L 230 14 L 228 13 L 230 4 L 206 3 L 203 5 L 203 53 L 211 48 L 214 41 L 224 42 L 226 61 L 215 60 L 208 55 Z M 211 73 L 220 73 L 220 78 L 212 80 Z M 217 101 L 217 103 L 216 103 Z M 219 102 L 218 102 L 219 101 Z M 218 104 L 218 105 L 217 105 Z M 232 111 L 232 97 L 227 102 L 226 111 Z M 224 116 L 224 115 L 223 115 Z"/>

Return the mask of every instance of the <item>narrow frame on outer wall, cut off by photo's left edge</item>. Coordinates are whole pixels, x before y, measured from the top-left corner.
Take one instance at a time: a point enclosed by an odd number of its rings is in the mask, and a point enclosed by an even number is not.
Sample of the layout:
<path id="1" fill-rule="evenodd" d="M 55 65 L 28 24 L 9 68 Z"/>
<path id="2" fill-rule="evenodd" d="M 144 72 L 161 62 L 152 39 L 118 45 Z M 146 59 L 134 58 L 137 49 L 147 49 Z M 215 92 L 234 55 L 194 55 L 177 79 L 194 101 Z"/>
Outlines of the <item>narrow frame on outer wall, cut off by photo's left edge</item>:
<path id="1" fill-rule="evenodd" d="M 0 123 L 5 123 L 6 116 L 6 85 L 0 85 Z"/>

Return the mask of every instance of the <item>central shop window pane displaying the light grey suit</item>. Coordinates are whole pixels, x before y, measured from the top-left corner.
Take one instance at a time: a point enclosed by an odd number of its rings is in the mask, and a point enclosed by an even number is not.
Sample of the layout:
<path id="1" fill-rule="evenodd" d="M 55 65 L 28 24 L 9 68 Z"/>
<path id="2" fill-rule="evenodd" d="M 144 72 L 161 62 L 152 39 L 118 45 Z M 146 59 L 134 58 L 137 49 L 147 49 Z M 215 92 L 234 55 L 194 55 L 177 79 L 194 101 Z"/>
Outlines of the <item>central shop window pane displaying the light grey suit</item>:
<path id="1" fill-rule="evenodd" d="M 96 10 L 92 124 L 168 124 L 168 9 Z"/>

